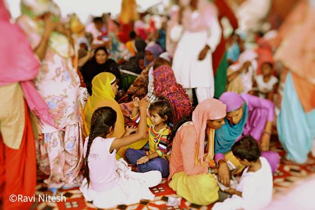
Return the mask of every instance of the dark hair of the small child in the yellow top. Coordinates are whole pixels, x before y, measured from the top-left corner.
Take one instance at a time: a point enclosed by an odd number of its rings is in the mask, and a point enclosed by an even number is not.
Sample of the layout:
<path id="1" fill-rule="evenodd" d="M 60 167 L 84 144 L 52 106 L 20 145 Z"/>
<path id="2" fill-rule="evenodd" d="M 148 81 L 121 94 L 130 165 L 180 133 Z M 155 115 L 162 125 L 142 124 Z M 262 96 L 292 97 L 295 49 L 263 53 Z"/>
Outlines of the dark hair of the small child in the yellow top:
<path id="1" fill-rule="evenodd" d="M 149 112 L 155 111 L 159 116 L 164 119 L 165 115 L 168 116 L 165 123 L 170 124 L 173 122 L 172 105 L 165 97 L 159 97 L 159 101 L 154 102 L 149 107 Z"/>

